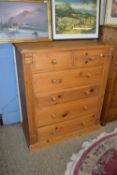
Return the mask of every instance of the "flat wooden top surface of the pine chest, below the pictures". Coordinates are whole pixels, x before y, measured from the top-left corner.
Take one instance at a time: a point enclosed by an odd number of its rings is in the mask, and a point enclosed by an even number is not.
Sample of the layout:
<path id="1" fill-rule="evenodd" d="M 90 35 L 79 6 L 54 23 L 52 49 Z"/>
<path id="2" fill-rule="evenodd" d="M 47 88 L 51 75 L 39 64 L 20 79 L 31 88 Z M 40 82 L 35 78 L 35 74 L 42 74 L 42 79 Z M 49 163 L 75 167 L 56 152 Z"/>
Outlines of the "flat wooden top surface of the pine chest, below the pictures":
<path id="1" fill-rule="evenodd" d="M 19 43 L 15 47 L 21 53 L 38 52 L 40 50 L 75 50 L 75 49 L 88 49 L 88 48 L 103 48 L 109 45 L 104 44 L 98 40 L 74 40 L 74 41 L 48 41 L 36 43 Z"/>

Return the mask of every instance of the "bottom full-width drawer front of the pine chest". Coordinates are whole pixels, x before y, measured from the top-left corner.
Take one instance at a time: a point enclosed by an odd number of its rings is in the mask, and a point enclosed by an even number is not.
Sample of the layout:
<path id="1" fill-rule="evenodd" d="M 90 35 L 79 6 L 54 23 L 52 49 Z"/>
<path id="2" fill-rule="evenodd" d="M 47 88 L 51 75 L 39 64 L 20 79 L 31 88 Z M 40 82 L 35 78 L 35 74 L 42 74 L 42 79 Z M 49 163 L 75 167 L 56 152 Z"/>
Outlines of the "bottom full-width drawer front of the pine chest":
<path id="1" fill-rule="evenodd" d="M 64 136 L 72 132 L 86 129 L 90 126 L 97 125 L 99 120 L 95 114 L 79 119 L 73 119 L 66 122 L 61 122 L 55 125 L 38 128 L 38 141 L 43 141 L 57 136 Z"/>

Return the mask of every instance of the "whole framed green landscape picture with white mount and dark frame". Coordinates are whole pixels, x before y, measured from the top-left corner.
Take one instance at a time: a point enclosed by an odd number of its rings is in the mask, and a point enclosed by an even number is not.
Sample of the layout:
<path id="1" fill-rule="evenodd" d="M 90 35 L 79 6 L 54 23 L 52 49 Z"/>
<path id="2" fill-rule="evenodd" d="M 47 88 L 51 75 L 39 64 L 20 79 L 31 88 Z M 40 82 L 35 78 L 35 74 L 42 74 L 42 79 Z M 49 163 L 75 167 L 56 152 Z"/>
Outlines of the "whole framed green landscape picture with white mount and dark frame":
<path id="1" fill-rule="evenodd" d="M 53 39 L 98 38 L 99 6 L 100 0 L 52 0 Z"/>

